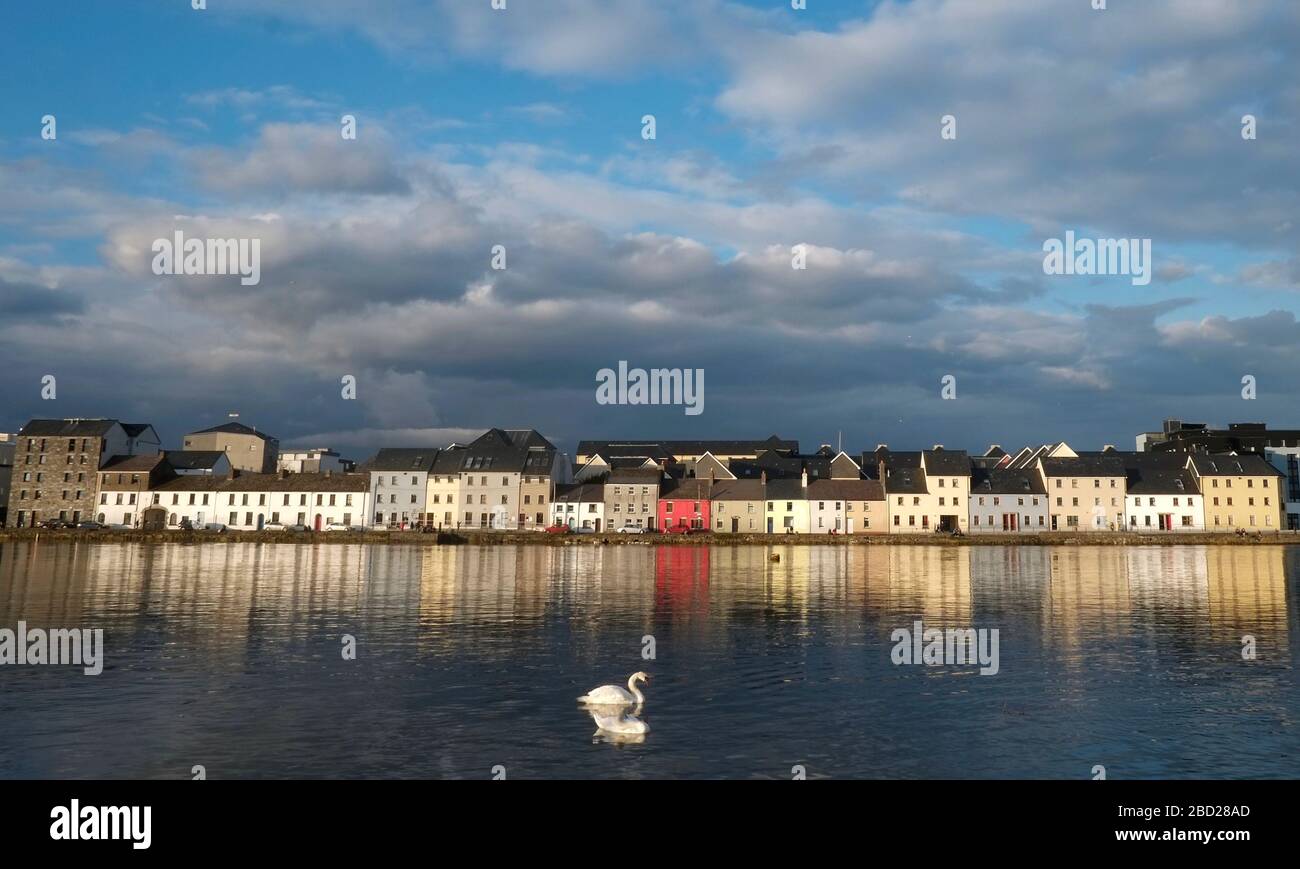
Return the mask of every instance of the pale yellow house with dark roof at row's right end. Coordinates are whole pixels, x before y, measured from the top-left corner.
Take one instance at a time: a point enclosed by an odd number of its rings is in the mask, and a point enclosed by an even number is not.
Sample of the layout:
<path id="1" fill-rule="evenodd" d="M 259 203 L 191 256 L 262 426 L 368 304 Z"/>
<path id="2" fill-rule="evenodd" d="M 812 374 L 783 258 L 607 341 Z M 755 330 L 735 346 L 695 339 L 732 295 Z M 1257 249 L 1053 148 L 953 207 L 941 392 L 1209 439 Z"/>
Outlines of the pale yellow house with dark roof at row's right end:
<path id="1" fill-rule="evenodd" d="M 1201 487 L 1206 531 L 1280 531 L 1282 472 L 1260 455 L 1190 455 Z"/>

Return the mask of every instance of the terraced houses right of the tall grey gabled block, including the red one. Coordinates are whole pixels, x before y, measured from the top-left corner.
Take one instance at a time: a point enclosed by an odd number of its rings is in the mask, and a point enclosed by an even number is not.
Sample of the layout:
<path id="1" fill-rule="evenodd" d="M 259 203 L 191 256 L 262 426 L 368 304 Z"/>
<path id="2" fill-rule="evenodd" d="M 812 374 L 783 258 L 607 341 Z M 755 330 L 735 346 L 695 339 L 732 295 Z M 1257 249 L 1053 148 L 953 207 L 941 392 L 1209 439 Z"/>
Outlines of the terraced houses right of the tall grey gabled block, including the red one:
<path id="1" fill-rule="evenodd" d="M 1288 527 L 1284 475 L 1256 454 L 1087 453 L 1065 442 L 978 457 L 942 446 L 861 455 L 827 446 L 801 455 L 790 442 L 718 448 L 725 459 L 701 442 L 580 448 L 578 481 L 560 487 L 551 520 L 592 531 L 845 535 Z"/>

